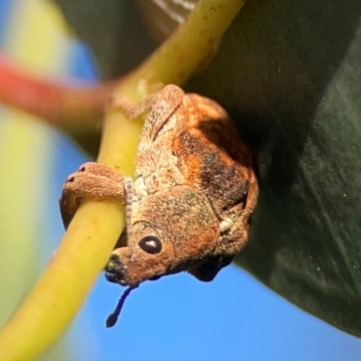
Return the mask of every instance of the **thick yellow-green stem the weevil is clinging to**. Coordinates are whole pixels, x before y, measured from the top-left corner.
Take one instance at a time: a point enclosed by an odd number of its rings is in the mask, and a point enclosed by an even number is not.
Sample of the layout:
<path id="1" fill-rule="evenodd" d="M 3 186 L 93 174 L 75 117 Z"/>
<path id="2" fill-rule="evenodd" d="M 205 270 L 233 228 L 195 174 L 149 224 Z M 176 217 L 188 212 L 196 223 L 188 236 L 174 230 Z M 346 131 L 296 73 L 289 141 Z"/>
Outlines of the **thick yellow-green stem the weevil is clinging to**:
<path id="1" fill-rule="evenodd" d="M 152 89 L 159 83 L 184 83 L 214 51 L 242 5 L 244 0 L 200 0 L 187 21 L 122 82 L 116 95 L 137 102 L 146 96 L 144 85 Z M 98 162 L 133 174 L 141 127 L 109 107 Z M 41 279 L 3 329 L 0 361 L 30 361 L 59 338 L 124 226 L 125 212 L 119 204 L 89 199 L 81 205 Z"/>

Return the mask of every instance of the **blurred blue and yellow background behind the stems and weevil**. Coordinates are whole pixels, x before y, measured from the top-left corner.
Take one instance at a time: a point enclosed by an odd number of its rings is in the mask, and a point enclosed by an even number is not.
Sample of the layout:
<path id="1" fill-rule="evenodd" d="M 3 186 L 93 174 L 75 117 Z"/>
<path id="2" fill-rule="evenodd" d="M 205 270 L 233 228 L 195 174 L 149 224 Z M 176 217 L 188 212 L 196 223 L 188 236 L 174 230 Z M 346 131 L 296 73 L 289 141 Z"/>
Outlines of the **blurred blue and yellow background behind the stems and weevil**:
<path id="1" fill-rule="evenodd" d="M 51 1 L 0 0 L 0 50 L 35 74 L 65 83 L 97 81 L 90 52 Z M 0 324 L 56 250 L 64 232 L 62 182 L 87 160 L 64 134 L 0 106 Z M 106 329 L 122 292 L 101 275 L 60 344 L 42 359 L 361 359 L 360 339 L 298 310 L 233 265 L 210 283 L 184 273 L 143 284 L 116 327 Z"/>

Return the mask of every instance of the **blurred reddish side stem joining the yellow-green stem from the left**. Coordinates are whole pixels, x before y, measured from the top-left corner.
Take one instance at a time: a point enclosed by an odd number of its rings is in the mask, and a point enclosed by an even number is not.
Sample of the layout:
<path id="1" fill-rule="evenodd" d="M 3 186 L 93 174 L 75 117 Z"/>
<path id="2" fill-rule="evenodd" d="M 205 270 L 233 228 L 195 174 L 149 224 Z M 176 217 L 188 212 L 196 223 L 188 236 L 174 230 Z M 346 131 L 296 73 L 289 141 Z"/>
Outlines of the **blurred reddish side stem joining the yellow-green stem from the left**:
<path id="1" fill-rule="evenodd" d="M 0 54 L 0 102 L 39 116 L 69 134 L 94 132 L 116 82 L 71 87 L 37 78 Z"/>

